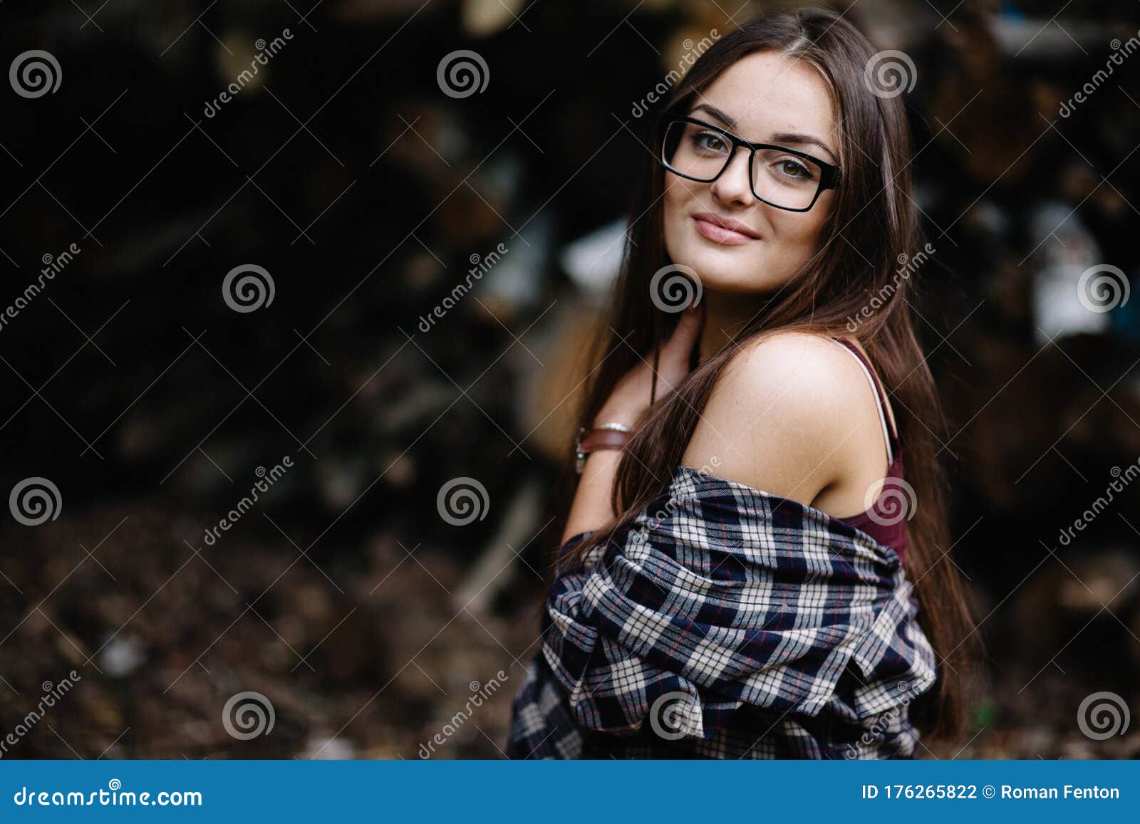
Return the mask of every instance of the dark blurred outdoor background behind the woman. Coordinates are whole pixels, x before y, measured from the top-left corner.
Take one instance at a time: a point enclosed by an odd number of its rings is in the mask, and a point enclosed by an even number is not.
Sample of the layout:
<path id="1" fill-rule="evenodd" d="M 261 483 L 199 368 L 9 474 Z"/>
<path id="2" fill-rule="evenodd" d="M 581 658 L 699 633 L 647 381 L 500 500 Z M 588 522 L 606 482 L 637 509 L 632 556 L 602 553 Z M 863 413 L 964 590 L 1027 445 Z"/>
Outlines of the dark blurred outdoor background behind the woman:
<path id="1" fill-rule="evenodd" d="M 500 757 L 636 105 L 800 5 L 0 6 L 3 757 Z M 1078 708 L 1140 711 L 1140 8 L 832 5 L 914 66 L 915 309 L 988 647 L 977 734 L 934 754 L 1135 757 Z M 458 50 L 481 90 L 440 79 Z M 243 692 L 271 731 L 231 734 Z"/>

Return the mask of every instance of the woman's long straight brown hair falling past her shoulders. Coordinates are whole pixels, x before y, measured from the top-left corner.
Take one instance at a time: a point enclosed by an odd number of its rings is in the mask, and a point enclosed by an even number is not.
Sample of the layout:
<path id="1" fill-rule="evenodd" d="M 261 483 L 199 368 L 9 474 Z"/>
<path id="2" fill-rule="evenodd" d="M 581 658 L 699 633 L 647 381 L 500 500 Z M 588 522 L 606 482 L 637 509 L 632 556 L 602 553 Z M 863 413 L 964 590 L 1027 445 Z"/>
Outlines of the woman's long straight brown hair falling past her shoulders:
<path id="1" fill-rule="evenodd" d="M 742 345 L 784 329 L 852 334 L 896 399 L 907 482 L 918 501 L 907 523 L 906 569 L 915 585 L 919 621 L 939 661 L 938 687 L 914 702 L 912 717 L 926 735 L 959 739 L 967 724 L 976 636 L 956 568 L 945 557 L 948 525 L 936 454 L 945 422 L 914 333 L 913 272 L 899 277 L 899 262 L 915 255 L 922 240 L 910 197 L 910 130 L 902 97 L 870 91 L 864 70 L 874 49 L 855 26 L 833 11 L 803 9 L 762 17 L 725 34 L 674 88 L 663 111 L 687 107 L 736 60 L 763 50 L 804 60 L 828 82 L 839 115 L 842 182 L 821 229 L 820 251 L 765 301 L 735 342 Z M 637 365 L 638 353 L 656 352 L 679 317 L 658 309 L 650 294 L 653 274 L 673 263 L 665 245 L 663 191 L 665 170 L 652 162 L 634 196 L 612 309 L 594 338 L 580 425 L 589 425 L 618 380 Z M 866 312 L 874 297 L 881 305 Z M 710 357 L 675 394 L 651 405 L 613 484 L 613 511 L 622 514 L 568 552 L 563 568 L 580 564 L 592 548 L 608 544 L 663 491 L 714 384 L 736 351 L 727 346 Z"/>

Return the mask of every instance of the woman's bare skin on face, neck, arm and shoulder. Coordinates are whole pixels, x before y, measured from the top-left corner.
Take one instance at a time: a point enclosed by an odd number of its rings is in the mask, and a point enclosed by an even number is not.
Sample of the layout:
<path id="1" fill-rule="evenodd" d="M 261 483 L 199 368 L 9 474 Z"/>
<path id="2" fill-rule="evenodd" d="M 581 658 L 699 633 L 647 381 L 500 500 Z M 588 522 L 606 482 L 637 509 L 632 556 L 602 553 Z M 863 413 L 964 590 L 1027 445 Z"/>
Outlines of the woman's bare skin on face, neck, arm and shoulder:
<path id="1" fill-rule="evenodd" d="M 723 122 L 709 107 L 734 122 Z M 842 165 L 826 83 L 811 66 L 774 52 L 733 64 L 698 98 L 691 116 L 747 140 L 789 146 Z M 814 137 L 822 146 L 774 139 L 790 132 Z M 669 256 L 692 267 L 703 291 L 701 305 L 686 310 L 661 348 L 659 381 L 676 386 L 694 348 L 703 361 L 732 345 L 732 335 L 756 307 L 798 276 L 819 251 L 836 193 L 824 191 L 808 212 L 769 206 L 752 195 L 748 156 L 740 149 L 712 182 L 667 173 L 666 185 Z M 759 238 L 741 244 L 711 240 L 692 217 L 701 212 L 740 221 Z M 651 378 L 649 364 L 630 370 L 594 424 L 632 425 L 649 406 Z M 894 418 L 889 409 L 888 415 Z M 610 492 L 620 457 L 612 449 L 589 455 L 563 541 L 617 514 L 610 508 Z M 888 468 L 878 401 L 857 361 L 834 341 L 792 332 L 740 348 L 714 387 L 682 463 L 715 466 L 718 478 L 837 517 L 863 512 Z"/>

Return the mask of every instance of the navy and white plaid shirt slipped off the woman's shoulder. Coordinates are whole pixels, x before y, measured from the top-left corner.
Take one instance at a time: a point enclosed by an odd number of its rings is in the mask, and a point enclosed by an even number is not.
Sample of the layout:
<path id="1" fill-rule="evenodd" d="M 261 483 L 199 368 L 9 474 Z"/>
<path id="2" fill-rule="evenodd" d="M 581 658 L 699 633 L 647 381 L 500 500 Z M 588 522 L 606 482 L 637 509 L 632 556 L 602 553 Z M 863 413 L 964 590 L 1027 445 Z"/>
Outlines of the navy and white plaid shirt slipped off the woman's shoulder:
<path id="1" fill-rule="evenodd" d="M 917 611 L 865 532 L 678 466 L 552 585 L 507 754 L 909 758 L 936 679 Z"/>

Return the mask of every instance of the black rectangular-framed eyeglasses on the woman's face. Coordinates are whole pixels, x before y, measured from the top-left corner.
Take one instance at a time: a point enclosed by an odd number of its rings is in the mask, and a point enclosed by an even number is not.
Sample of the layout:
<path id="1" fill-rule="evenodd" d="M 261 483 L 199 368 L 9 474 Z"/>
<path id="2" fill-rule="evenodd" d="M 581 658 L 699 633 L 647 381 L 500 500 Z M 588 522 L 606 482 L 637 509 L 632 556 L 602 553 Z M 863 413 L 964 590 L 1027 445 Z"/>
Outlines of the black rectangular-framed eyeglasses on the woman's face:
<path id="1" fill-rule="evenodd" d="M 666 114 L 658 130 L 658 160 L 689 180 L 710 183 L 728 168 L 736 148 L 748 149 L 748 173 L 757 201 L 806 212 L 824 189 L 839 188 L 839 166 L 772 144 L 756 144 L 695 117 Z"/>

